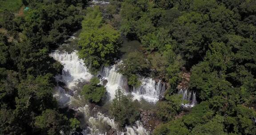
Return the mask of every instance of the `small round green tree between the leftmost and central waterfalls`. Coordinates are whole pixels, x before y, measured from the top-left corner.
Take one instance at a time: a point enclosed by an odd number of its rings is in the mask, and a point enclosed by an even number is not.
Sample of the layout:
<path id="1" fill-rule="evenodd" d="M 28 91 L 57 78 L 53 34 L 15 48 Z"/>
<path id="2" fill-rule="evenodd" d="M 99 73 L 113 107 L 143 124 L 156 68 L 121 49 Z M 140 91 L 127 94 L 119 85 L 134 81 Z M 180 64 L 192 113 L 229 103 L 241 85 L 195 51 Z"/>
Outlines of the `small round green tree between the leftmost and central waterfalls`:
<path id="1" fill-rule="evenodd" d="M 100 83 L 100 80 L 97 77 L 93 77 L 90 80 L 90 84 L 84 85 L 81 94 L 84 95 L 85 99 L 94 103 L 100 102 L 106 93 L 106 88 L 98 83 Z"/>

